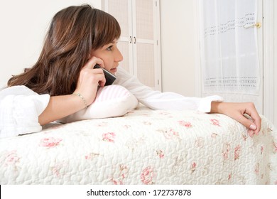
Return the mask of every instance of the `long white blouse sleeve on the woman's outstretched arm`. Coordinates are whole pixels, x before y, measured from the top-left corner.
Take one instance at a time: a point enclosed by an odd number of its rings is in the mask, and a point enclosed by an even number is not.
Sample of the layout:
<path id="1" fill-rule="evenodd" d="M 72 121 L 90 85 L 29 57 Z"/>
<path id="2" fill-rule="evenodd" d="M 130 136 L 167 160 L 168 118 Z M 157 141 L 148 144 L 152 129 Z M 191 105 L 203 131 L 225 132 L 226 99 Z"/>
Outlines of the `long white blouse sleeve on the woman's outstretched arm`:
<path id="1" fill-rule="evenodd" d="M 211 102 L 222 102 L 222 97 L 217 95 L 209 97 L 184 97 L 175 92 L 160 92 L 152 90 L 151 87 L 143 85 L 139 80 L 129 75 L 123 68 L 118 68 L 116 72 L 117 85 L 126 87 L 133 93 L 139 102 L 151 109 L 172 109 L 172 110 L 198 110 L 200 112 L 210 112 Z"/>

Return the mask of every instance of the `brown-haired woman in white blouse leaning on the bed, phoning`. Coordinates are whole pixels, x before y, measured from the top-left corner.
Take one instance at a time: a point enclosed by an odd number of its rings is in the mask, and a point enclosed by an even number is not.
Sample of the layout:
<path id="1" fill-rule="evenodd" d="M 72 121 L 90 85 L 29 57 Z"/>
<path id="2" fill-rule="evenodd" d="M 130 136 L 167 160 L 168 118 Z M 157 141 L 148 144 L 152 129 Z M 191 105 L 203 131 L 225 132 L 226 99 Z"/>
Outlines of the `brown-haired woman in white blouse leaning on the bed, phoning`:
<path id="1" fill-rule="evenodd" d="M 11 77 L 8 90 L 23 85 L 28 96 L 36 95 L 38 99 L 31 102 L 35 104 L 33 107 L 37 103 L 45 104 L 37 111 L 38 125 L 48 124 L 94 102 L 97 87 L 104 87 L 106 81 L 103 70 L 94 69 L 98 64 L 116 74 L 118 80 L 115 83 L 126 87 L 147 107 L 226 114 L 249 128 L 250 136 L 259 133 L 261 118 L 253 103 L 228 103 L 221 102 L 218 96 L 196 98 L 153 91 L 118 68 L 123 60 L 116 45 L 120 33 L 119 23 L 113 16 L 89 5 L 70 6 L 59 11 L 50 24 L 37 63 Z M 12 93 L 17 95 L 17 92 Z M 2 98 L 6 96 L 2 95 Z M 244 114 L 251 119 L 246 119 Z"/>

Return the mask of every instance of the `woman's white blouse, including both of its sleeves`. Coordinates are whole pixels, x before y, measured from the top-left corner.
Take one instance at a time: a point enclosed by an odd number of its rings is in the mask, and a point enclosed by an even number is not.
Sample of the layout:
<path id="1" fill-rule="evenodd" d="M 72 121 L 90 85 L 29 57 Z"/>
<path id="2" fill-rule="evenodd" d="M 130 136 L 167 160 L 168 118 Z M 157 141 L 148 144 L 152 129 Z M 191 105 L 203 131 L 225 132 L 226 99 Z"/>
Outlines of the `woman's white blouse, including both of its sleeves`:
<path id="1" fill-rule="evenodd" d="M 114 85 L 129 90 L 141 104 L 151 109 L 199 110 L 210 112 L 212 101 L 222 97 L 184 97 L 175 92 L 160 92 L 141 84 L 122 68 L 116 72 Z M 49 103 L 50 95 L 38 95 L 25 86 L 8 87 L 0 91 L 0 138 L 41 131 L 38 116 Z"/>

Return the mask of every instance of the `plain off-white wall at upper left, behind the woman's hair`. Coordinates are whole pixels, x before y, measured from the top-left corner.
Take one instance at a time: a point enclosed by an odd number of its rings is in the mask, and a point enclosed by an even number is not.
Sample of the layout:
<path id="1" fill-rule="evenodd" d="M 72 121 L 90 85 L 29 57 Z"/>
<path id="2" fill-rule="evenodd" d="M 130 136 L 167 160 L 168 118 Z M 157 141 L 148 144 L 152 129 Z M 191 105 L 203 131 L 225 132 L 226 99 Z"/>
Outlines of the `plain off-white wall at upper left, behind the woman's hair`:
<path id="1" fill-rule="evenodd" d="M 67 6 L 91 4 L 101 8 L 101 0 L 1 1 L 0 7 L 0 87 L 36 63 L 51 18 Z"/>

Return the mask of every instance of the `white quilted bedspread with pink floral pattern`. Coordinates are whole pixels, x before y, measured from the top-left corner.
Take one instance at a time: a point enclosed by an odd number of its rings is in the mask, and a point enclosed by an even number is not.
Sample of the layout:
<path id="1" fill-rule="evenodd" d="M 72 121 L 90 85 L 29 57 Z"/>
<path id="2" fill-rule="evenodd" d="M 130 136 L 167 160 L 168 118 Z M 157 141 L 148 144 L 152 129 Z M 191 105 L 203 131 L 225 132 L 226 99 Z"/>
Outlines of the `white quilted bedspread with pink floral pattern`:
<path id="1" fill-rule="evenodd" d="M 153 111 L 0 139 L 1 184 L 277 184 L 277 130 L 222 114 Z"/>

